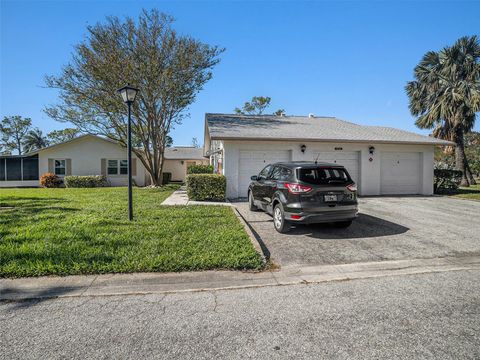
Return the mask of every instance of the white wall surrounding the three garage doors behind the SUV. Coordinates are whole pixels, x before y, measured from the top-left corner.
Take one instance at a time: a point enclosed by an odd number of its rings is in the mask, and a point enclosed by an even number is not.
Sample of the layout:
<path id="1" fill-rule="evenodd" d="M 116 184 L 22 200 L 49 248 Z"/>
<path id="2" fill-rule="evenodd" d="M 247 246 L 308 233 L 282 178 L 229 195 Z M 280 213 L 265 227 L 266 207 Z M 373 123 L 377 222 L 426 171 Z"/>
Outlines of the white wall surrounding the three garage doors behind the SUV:
<path id="1" fill-rule="evenodd" d="M 300 146 L 307 146 L 305 153 Z M 373 156 L 368 148 L 375 147 Z M 335 150 L 341 147 L 342 150 Z M 314 161 L 318 152 L 358 151 L 359 152 L 359 194 L 380 195 L 380 158 L 382 151 L 418 152 L 420 153 L 420 192 L 423 195 L 433 194 L 433 145 L 402 144 L 364 144 L 364 143 L 327 143 L 327 142 L 280 142 L 280 141 L 223 141 L 223 174 L 227 178 L 227 197 L 239 196 L 239 154 L 241 150 L 291 150 L 292 161 Z M 369 161 L 372 157 L 373 160 Z M 255 175 L 255 174 L 252 174 Z"/>

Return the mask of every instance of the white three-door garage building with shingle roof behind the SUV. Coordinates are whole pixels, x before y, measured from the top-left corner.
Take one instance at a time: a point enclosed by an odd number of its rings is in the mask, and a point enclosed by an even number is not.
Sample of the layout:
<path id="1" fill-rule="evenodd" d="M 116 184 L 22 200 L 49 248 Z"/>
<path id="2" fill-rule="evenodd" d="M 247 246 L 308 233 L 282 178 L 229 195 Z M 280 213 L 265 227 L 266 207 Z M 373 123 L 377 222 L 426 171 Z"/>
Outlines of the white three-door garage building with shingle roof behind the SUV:
<path id="1" fill-rule="evenodd" d="M 204 144 L 238 198 L 269 163 L 315 160 L 345 166 L 360 195 L 431 195 L 434 148 L 452 143 L 335 117 L 206 114 Z"/>

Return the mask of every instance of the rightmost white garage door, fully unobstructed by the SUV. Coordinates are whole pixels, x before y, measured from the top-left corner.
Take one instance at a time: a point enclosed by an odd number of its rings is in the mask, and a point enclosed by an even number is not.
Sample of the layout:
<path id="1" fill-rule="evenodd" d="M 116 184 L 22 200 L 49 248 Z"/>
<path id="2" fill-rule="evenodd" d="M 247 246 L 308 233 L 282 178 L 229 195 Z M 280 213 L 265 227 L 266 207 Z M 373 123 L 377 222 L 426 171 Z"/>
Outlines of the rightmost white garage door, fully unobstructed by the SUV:
<path id="1" fill-rule="evenodd" d="M 420 153 L 384 152 L 381 158 L 381 194 L 420 193 Z"/>

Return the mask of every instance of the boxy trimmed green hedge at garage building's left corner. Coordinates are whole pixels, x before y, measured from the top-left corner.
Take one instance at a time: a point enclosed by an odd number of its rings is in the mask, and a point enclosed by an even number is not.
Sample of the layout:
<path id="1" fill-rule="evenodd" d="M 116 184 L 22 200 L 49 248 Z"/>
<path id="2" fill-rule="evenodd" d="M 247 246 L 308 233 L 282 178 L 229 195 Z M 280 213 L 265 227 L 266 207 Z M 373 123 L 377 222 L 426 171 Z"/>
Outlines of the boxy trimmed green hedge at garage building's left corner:
<path id="1" fill-rule="evenodd" d="M 190 200 L 224 201 L 227 179 L 218 174 L 187 175 L 187 195 Z"/>

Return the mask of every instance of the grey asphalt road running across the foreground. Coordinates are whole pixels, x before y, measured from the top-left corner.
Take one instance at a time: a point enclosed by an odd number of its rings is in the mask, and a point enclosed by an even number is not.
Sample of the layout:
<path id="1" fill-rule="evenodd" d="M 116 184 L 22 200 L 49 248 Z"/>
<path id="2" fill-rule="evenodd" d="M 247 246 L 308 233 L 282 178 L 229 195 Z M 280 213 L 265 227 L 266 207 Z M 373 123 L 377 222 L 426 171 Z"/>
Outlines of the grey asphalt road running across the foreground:
<path id="1" fill-rule="evenodd" d="M 2 359 L 478 359 L 480 271 L 0 303 Z"/>

